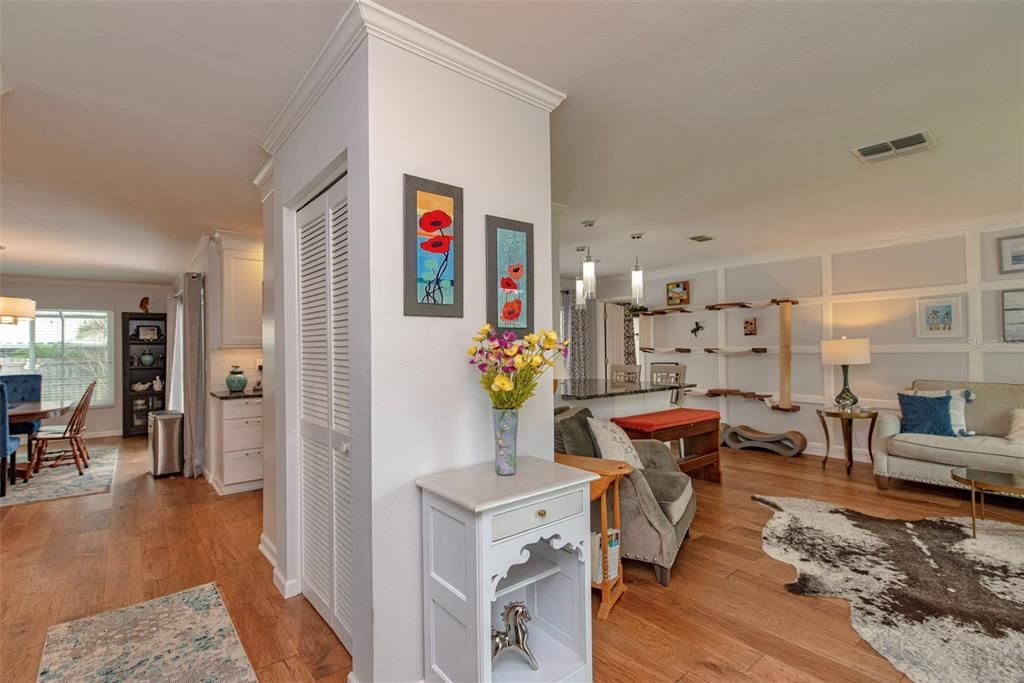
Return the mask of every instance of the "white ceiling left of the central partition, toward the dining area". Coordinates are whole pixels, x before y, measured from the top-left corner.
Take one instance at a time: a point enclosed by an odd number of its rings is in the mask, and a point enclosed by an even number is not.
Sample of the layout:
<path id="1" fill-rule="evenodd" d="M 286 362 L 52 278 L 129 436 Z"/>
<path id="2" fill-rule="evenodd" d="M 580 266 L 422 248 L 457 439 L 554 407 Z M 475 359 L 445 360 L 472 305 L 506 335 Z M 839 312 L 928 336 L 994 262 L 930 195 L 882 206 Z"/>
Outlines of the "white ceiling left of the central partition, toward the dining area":
<path id="1" fill-rule="evenodd" d="M 11 2 L 3 272 L 169 282 L 259 232 L 259 141 L 347 2 Z"/>

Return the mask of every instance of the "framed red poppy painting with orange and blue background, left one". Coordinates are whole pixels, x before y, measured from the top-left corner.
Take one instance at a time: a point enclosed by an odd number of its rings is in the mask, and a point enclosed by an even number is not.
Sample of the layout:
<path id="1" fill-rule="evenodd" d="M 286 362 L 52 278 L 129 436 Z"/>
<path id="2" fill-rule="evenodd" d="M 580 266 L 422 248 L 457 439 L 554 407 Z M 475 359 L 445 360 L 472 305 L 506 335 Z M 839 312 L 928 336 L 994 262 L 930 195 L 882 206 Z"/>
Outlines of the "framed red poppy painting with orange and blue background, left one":
<path id="1" fill-rule="evenodd" d="M 462 317 L 462 187 L 404 179 L 406 315 Z"/>

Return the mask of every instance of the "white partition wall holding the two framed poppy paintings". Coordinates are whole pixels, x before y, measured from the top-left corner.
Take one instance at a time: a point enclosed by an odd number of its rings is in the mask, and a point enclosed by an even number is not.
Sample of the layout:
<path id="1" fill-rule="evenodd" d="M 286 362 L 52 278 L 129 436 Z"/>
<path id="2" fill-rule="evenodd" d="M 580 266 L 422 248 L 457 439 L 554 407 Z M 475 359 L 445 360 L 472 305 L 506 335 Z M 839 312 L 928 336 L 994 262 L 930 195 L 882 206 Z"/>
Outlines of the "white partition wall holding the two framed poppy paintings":
<path id="1" fill-rule="evenodd" d="M 264 353 L 273 356 L 266 386 L 274 407 L 269 507 L 275 521 L 264 531 L 275 531 L 274 582 L 285 595 L 306 593 L 322 613 L 337 611 L 334 598 L 342 591 L 328 573 L 337 579 L 344 569 L 350 574 L 351 604 L 345 606 L 350 637 L 344 642 L 353 656 L 353 683 L 424 678 L 421 508 L 415 479 L 494 458 L 489 404 L 464 353 L 486 318 L 485 215 L 534 225 L 535 324 L 557 325 L 552 317 L 549 118 L 563 98 L 433 31 L 357 0 L 264 139 L 272 155 L 272 193 L 261 189 L 271 204 L 265 229 L 273 233 L 265 242 L 272 260 L 267 286 L 273 335 Z M 307 259 L 315 254 L 302 253 L 309 222 L 305 213 L 297 216 L 343 172 L 348 183 L 348 454 L 334 447 L 337 430 L 330 426 L 336 387 L 324 389 L 323 377 L 310 375 L 316 359 L 310 344 L 317 335 L 334 333 L 317 328 L 315 311 L 303 308 L 312 294 L 303 291 L 310 282 L 304 275 L 315 276 L 304 268 L 312 267 Z M 403 174 L 463 188 L 463 318 L 403 314 Z M 265 183 L 267 175 L 264 170 L 255 180 Z M 333 273 L 335 264 L 326 267 Z M 335 292 L 327 296 L 333 301 Z M 332 338 L 319 350 L 327 358 L 326 376 L 338 344 Z M 317 386 L 328 407 L 326 418 L 323 410 L 318 417 L 306 410 L 315 402 Z M 552 408 L 551 392 L 539 391 L 521 412 L 523 455 L 553 457 Z M 350 457 L 351 513 L 339 516 L 339 489 L 303 474 L 308 461 L 321 468 L 321 479 L 337 484 L 341 455 Z M 339 556 L 337 535 L 329 532 L 345 518 L 351 523 L 347 567 L 339 566 L 346 558 Z"/>

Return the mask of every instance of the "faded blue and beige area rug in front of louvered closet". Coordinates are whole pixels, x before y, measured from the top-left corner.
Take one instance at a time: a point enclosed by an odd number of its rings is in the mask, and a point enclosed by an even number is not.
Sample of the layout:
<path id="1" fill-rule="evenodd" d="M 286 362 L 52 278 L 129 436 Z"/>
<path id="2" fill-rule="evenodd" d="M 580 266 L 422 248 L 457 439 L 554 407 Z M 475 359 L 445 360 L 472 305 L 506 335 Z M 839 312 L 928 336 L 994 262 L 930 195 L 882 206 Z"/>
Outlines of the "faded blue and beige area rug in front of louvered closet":
<path id="1" fill-rule="evenodd" d="M 37 681 L 256 681 L 216 584 L 51 626 Z"/>

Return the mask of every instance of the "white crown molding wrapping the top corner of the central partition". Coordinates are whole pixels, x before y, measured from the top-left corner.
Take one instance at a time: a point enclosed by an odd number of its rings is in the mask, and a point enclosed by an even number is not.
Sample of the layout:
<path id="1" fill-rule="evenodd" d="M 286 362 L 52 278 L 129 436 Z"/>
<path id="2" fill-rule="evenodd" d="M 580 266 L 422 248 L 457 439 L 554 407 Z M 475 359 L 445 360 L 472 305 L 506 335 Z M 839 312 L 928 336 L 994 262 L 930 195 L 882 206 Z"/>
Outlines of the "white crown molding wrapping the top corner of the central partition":
<path id="1" fill-rule="evenodd" d="M 565 99 L 565 93 L 397 12 L 371 0 L 355 0 L 263 136 L 261 146 L 267 154 L 276 154 L 368 35 L 545 112 L 552 112 Z"/>

